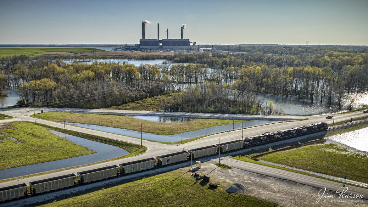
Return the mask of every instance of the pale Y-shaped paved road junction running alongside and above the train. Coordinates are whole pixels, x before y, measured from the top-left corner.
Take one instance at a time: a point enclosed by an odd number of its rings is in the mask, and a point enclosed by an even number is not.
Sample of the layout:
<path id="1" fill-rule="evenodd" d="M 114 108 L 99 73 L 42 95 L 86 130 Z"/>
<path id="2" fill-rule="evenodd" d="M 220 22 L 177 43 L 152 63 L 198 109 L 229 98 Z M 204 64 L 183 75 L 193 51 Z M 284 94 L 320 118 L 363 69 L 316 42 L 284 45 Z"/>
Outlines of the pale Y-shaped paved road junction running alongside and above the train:
<path id="1" fill-rule="evenodd" d="M 50 111 L 50 110 L 56 110 L 57 108 L 20 108 L 20 109 L 0 109 L 0 113 L 9 115 L 9 116 L 13 116 L 16 119 L 10 119 L 9 121 L 13 120 L 23 120 L 23 121 L 34 121 L 34 118 L 29 117 L 29 115 L 33 114 L 33 110 L 36 110 L 36 113 L 39 113 L 40 110 L 44 110 L 44 111 Z M 68 109 L 70 112 L 73 111 L 73 109 Z M 74 109 L 74 110 L 80 110 L 80 109 Z M 224 115 L 227 116 L 227 115 Z M 362 117 L 362 116 L 368 116 L 367 113 L 362 113 L 362 111 L 358 111 L 358 112 L 353 112 L 353 113 L 349 113 L 349 114 L 336 114 L 335 115 L 335 122 L 339 122 L 339 121 L 344 121 L 344 120 L 348 120 L 350 119 L 350 117 Z M 316 122 L 321 122 L 321 121 L 327 121 L 327 123 L 332 123 L 333 120 L 326 120 L 325 116 L 310 116 L 308 120 L 303 120 L 303 121 L 295 121 L 295 122 L 284 122 L 284 123 L 276 123 L 276 124 L 270 124 L 270 125 L 265 125 L 265 126 L 259 126 L 259 127 L 253 127 L 253 128 L 249 128 L 246 130 L 243 130 L 243 135 L 244 137 L 246 136 L 252 136 L 252 135 L 256 135 L 256 134 L 262 134 L 265 131 L 277 131 L 280 129 L 289 129 L 292 127 L 297 127 L 297 126 L 302 126 L 305 124 L 310 124 L 310 123 L 316 123 Z M 50 121 L 46 121 L 46 120 L 42 120 L 42 119 L 36 119 L 36 122 L 38 123 L 43 123 L 43 124 L 47 124 L 49 126 L 55 126 L 55 127 L 59 127 L 59 128 L 64 128 L 64 124 L 61 123 L 56 123 L 56 122 L 50 122 Z M 68 130 L 74 130 L 74 131 L 79 131 L 82 133 L 87 133 L 87 134 L 94 134 L 97 136 L 101 136 L 101 137 L 107 137 L 107 138 L 112 138 L 112 139 L 116 139 L 116 140 L 121 140 L 121 141 L 127 141 L 130 143 L 135 143 L 135 144 L 141 144 L 141 140 L 138 138 L 133 138 L 133 137 L 127 137 L 127 136 L 123 136 L 123 135 L 118 135 L 118 134 L 112 134 L 112 133 L 107 133 L 107 132 L 103 132 L 103 131 L 97 131 L 97 130 L 92 130 L 92 129 L 85 129 L 85 128 L 80 128 L 80 127 L 75 127 L 75 126 L 70 126 L 70 125 L 66 125 L 66 129 Z M 35 181 L 35 180 L 41 180 L 41 179 L 46 179 L 46 178 L 52 178 L 55 176 L 61 176 L 61 175 L 66 175 L 66 174 L 70 174 L 70 173 L 77 173 L 77 172 L 81 172 L 81 171 L 86 171 L 89 169 L 95 169 L 95 168 L 99 168 L 99 167 L 103 167 L 106 165 L 118 165 L 121 164 L 123 162 L 130 162 L 130 161 L 134 161 L 137 159 L 145 159 L 145 158 L 150 158 L 150 157 L 156 157 L 159 155 L 164 155 L 164 154 L 169 154 L 172 152 L 178 152 L 183 150 L 183 148 L 185 148 L 185 150 L 190 150 L 193 148 L 198 148 L 198 147 L 204 147 L 204 146 L 208 146 L 208 145 L 212 145 L 212 144 L 217 144 L 218 143 L 218 139 L 220 138 L 220 141 L 226 142 L 226 141 L 233 141 L 233 140 L 238 140 L 241 139 L 242 137 L 242 130 L 235 130 L 235 131 L 230 131 L 227 133 L 219 133 L 219 134 L 214 134 L 208 137 L 204 137 L 201 138 L 199 140 L 195 140 L 192 141 L 190 143 L 185 143 L 185 144 L 181 144 L 181 145 L 168 145 L 168 144 L 161 144 L 161 143 L 157 143 L 157 142 L 153 142 L 153 141 L 147 141 L 147 140 L 143 140 L 143 145 L 145 145 L 146 147 L 148 147 L 148 151 L 142 155 L 139 156 L 135 156 L 135 157 L 131 157 L 131 158 L 125 158 L 125 159 L 119 159 L 116 161 L 110 161 L 110 162 L 105 162 L 102 164 L 97 164 L 97 165 L 91 165 L 91 166 L 86 166 L 86 167 L 81 167 L 81 168 L 75 168 L 75 169 L 70 169 L 70 170 L 66 170 L 66 171 L 60 171 L 60 172 L 55 172 L 55 173 L 50 173 L 50 174 L 46 174 L 46 175 L 40 175 L 40 176 L 35 176 L 32 178 L 25 178 L 25 179 L 21 179 L 21 180 L 13 180 L 10 182 L 4 182 L 4 183 L 0 183 L 0 187 L 4 187 L 4 186 L 10 186 L 10 185 L 17 185 L 19 183 L 27 183 L 30 181 Z"/>

